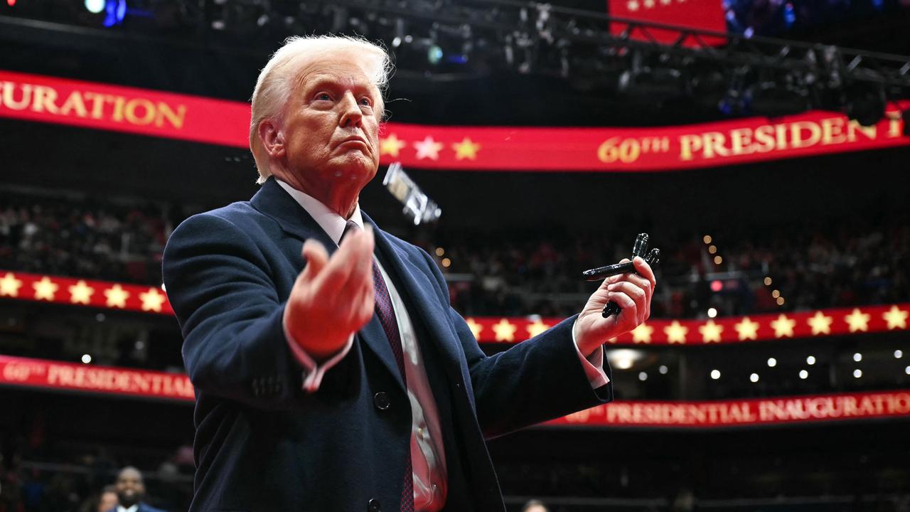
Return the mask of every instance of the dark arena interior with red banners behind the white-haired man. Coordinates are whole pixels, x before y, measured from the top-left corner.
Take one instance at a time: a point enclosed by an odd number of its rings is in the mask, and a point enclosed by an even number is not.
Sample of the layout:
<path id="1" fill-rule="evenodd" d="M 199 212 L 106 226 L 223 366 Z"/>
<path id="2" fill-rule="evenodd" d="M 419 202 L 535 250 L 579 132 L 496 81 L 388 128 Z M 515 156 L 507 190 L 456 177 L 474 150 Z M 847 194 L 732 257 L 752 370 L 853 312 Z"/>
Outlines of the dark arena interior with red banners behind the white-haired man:
<path id="1" fill-rule="evenodd" d="M 509 510 L 910 511 L 907 0 L 5 0 L 0 512 L 95 512 L 125 466 L 187 509 L 162 252 L 256 192 L 258 71 L 323 33 L 389 48 L 360 205 L 484 351 L 662 250 L 614 402 L 490 439 Z"/>

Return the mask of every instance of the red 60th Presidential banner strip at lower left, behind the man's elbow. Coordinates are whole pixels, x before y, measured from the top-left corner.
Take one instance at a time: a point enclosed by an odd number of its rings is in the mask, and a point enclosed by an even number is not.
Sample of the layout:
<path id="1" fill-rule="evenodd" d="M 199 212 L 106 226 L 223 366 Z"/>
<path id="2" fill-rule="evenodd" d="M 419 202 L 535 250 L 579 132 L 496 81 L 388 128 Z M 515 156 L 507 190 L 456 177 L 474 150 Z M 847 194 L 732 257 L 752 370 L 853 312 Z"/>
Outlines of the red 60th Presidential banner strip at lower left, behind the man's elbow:
<path id="1" fill-rule="evenodd" d="M 190 402 L 195 398 L 193 384 L 186 374 L 61 363 L 7 355 L 0 355 L 0 384 Z"/>

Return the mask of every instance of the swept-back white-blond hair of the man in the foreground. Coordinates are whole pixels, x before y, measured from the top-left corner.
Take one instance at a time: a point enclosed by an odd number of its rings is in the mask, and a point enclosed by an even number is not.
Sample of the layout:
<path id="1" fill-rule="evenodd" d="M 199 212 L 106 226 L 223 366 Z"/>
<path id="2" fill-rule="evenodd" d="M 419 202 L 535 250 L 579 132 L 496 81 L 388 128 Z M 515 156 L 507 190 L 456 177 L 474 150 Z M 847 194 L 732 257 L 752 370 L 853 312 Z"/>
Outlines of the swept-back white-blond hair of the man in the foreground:
<path id="1" fill-rule="evenodd" d="M 272 175 L 268 167 L 268 153 L 259 140 L 259 123 L 264 119 L 281 117 L 282 109 L 297 85 L 299 70 L 319 58 L 346 56 L 379 89 L 377 116 L 381 119 L 384 104 L 381 94 L 389 84 L 391 61 L 385 48 L 370 43 L 362 37 L 350 36 L 292 36 L 278 48 L 266 67 L 259 72 L 253 90 L 252 118 L 249 123 L 249 150 L 256 159 L 259 171 L 257 183 L 265 183 Z"/>

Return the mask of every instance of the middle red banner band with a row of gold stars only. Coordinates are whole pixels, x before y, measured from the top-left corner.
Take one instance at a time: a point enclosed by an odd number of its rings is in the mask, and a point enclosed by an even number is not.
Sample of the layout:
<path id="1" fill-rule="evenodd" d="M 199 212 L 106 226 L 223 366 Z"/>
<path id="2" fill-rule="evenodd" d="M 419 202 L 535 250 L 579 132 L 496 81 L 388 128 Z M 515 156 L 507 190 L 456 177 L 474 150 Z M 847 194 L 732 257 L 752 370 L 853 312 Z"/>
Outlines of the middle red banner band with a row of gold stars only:
<path id="1" fill-rule="evenodd" d="M 174 314 L 167 294 L 154 286 L 26 272 L 0 271 L 0 298 Z M 910 303 L 709 320 L 655 319 L 631 333 L 612 338 L 609 343 L 704 345 L 884 333 L 907 330 L 908 316 Z M 562 321 L 561 318 L 534 316 L 468 317 L 466 320 L 481 343 L 519 343 Z"/>

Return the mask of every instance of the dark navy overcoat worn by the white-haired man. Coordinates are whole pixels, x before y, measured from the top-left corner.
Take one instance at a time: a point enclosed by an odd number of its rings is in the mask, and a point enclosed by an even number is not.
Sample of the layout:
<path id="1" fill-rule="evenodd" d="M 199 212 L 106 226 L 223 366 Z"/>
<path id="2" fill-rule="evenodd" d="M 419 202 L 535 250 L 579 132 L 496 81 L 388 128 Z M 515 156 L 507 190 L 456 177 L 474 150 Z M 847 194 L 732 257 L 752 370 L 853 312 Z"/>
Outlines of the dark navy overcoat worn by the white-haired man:
<path id="1" fill-rule="evenodd" d="M 591 389 L 571 341 L 574 317 L 485 355 L 451 309 L 430 255 L 375 234 L 375 254 L 407 305 L 439 407 L 446 510 L 504 510 L 485 438 L 607 402 L 612 387 Z M 196 387 L 192 511 L 399 509 L 410 402 L 375 314 L 319 390 L 301 390 L 281 319 L 308 239 L 337 250 L 268 179 L 252 200 L 191 217 L 167 242 L 167 296 Z"/>

